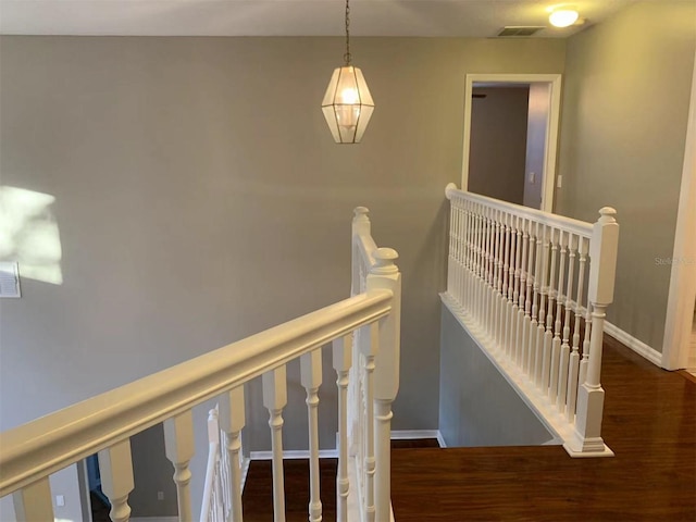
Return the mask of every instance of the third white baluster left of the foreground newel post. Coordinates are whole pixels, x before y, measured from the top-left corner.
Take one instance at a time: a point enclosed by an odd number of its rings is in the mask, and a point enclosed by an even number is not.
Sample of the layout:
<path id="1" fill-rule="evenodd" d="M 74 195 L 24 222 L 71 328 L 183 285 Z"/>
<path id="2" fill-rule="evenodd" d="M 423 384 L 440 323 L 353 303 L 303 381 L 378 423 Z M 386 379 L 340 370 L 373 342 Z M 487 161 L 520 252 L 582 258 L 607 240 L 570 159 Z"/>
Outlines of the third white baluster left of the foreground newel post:
<path id="1" fill-rule="evenodd" d="M 300 381 L 307 391 L 309 425 L 309 521 L 321 522 L 322 500 L 319 475 L 319 387 L 322 385 L 322 350 L 300 357 Z"/>

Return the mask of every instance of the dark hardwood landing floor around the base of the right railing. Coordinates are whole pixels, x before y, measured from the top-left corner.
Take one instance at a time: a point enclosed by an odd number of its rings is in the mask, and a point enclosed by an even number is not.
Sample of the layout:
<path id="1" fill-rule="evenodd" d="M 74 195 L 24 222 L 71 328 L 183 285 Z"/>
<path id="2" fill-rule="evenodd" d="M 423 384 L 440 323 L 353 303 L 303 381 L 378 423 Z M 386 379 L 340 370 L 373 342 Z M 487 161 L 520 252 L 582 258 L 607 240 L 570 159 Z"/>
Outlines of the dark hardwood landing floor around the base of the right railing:
<path id="1" fill-rule="evenodd" d="M 602 436 L 613 458 L 560 446 L 394 450 L 397 522 L 696 521 L 696 384 L 608 338 Z"/>

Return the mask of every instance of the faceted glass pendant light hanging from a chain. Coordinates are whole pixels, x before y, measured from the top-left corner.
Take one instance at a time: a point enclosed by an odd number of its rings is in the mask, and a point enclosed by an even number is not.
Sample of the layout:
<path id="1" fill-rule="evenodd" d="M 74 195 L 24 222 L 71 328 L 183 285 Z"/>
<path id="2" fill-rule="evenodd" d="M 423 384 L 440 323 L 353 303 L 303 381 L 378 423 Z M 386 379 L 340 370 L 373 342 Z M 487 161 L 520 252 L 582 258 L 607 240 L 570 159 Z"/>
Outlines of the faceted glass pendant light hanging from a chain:
<path id="1" fill-rule="evenodd" d="M 337 144 L 359 144 L 374 111 L 362 71 L 351 64 L 348 2 L 346 0 L 346 64 L 334 70 L 322 102 L 324 117 Z"/>

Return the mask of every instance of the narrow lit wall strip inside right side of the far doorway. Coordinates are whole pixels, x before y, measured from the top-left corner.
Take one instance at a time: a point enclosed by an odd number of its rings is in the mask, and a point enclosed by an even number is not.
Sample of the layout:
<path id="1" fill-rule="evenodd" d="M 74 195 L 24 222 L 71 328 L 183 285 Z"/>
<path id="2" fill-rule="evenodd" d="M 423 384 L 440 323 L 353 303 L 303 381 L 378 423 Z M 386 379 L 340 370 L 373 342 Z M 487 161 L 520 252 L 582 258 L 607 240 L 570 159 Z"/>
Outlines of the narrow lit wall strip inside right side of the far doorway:
<path id="1" fill-rule="evenodd" d="M 550 85 L 530 85 L 530 109 L 526 126 L 526 157 L 524 167 L 524 206 L 542 208 L 544 167 L 546 160 L 546 133 L 550 111 Z M 531 174 L 534 173 L 534 183 Z"/>

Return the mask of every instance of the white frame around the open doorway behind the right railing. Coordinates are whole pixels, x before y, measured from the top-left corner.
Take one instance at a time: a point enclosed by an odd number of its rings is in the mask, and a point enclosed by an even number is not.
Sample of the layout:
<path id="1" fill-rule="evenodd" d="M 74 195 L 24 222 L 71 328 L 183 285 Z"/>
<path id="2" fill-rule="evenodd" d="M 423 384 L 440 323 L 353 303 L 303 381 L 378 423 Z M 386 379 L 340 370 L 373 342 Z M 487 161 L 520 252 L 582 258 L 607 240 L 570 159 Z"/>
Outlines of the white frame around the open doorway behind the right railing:
<path id="1" fill-rule="evenodd" d="M 556 186 L 556 158 L 558 154 L 558 124 L 561 112 L 560 74 L 468 74 L 464 87 L 464 142 L 461 163 L 461 188 L 469 187 L 469 149 L 471 146 L 471 103 L 474 83 L 532 84 L 545 83 L 550 87 L 550 107 L 546 133 L 546 161 L 544 162 L 542 210 L 552 212 Z"/>

